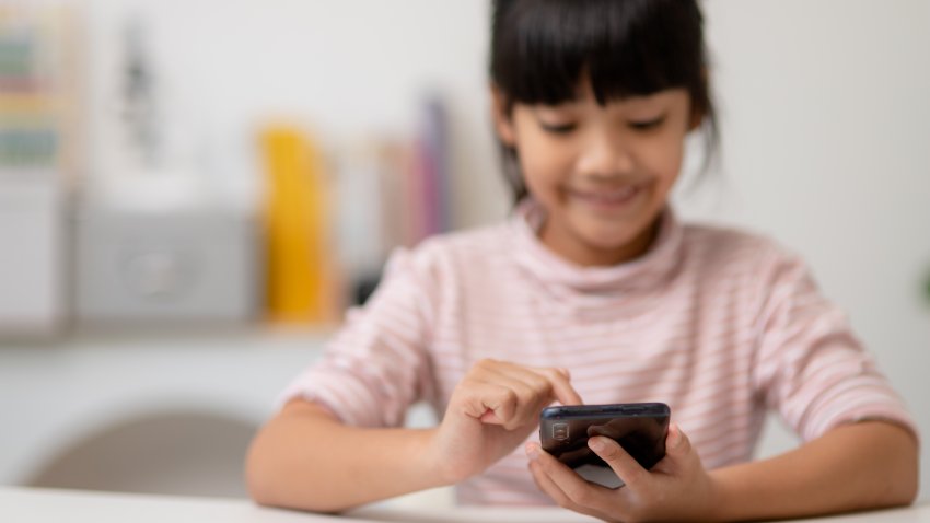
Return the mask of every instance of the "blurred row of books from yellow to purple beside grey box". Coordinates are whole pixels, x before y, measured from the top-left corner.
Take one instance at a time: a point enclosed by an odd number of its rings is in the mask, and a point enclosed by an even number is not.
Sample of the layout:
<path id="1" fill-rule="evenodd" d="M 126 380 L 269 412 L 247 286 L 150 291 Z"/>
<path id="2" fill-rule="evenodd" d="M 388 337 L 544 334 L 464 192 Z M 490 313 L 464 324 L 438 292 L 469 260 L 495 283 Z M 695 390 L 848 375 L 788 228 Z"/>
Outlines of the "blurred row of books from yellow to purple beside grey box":
<path id="1" fill-rule="evenodd" d="M 418 109 L 412 136 L 352 142 L 332 163 L 300 126 L 260 131 L 271 321 L 338 323 L 375 290 L 394 248 L 451 229 L 446 109 L 438 96 Z"/>

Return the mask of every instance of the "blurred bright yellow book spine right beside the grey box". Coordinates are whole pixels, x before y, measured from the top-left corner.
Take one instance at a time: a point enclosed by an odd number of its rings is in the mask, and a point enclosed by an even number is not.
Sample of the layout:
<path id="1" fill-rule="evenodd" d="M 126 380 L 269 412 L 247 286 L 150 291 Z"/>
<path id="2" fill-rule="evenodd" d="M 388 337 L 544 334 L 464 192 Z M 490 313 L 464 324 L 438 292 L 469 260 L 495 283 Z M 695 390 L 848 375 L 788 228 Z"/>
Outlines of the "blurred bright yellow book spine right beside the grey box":
<path id="1" fill-rule="evenodd" d="M 329 193 L 319 148 L 299 127 L 260 133 L 266 173 L 267 306 L 271 321 L 338 319 L 340 284 L 330 244 Z"/>

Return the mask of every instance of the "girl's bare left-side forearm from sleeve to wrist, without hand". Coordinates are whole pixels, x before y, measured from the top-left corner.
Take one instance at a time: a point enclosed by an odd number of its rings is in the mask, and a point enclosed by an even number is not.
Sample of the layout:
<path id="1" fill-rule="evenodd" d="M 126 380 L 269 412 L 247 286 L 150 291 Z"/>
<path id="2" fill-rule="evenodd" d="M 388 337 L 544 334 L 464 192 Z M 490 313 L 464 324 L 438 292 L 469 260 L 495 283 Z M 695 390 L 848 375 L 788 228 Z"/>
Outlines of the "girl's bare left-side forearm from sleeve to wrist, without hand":
<path id="1" fill-rule="evenodd" d="M 335 512 L 445 485 L 427 454 L 430 430 L 361 429 L 295 399 L 252 443 L 246 483 L 256 502 Z"/>

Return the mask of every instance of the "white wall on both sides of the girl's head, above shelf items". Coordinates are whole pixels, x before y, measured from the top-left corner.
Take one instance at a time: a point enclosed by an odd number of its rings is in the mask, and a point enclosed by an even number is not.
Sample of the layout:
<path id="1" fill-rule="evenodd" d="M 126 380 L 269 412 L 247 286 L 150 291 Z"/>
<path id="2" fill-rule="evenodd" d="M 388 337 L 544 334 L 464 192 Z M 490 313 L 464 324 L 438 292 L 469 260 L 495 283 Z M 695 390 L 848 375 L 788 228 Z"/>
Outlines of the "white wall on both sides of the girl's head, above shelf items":
<path id="1" fill-rule="evenodd" d="M 201 144 L 176 153 L 206 158 L 219 188 L 255 189 L 248 151 L 260 118 L 305 118 L 339 150 L 364 135 L 408 131 L 417 95 L 435 88 L 452 102 L 456 222 L 507 209 L 486 116 L 484 0 L 84 3 L 94 114 L 112 104 L 117 23 L 137 10 L 152 23 L 170 121 Z M 930 2 L 705 7 L 723 168 L 679 198 L 684 214 L 752 228 L 800 252 L 930 434 L 930 305 L 920 294 L 930 271 Z M 95 165 L 105 170 L 112 130 L 102 121 L 94 130 Z M 772 433 L 763 453 L 786 444 Z M 930 477 L 927 451 L 922 472 Z"/>

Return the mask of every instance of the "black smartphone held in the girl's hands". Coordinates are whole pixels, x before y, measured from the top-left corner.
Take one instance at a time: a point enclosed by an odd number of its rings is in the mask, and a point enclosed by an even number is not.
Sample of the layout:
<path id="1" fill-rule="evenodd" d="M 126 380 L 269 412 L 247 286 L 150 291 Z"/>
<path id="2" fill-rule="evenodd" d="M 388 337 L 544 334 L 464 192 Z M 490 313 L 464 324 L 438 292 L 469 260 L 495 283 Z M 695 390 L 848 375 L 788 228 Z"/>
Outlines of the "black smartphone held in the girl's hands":
<path id="1" fill-rule="evenodd" d="M 611 438 L 643 468 L 650 469 L 665 457 L 670 415 L 664 403 L 547 407 L 539 414 L 539 440 L 543 450 L 584 479 L 619 488 L 623 480 L 588 448 L 588 439 L 592 435 Z"/>

